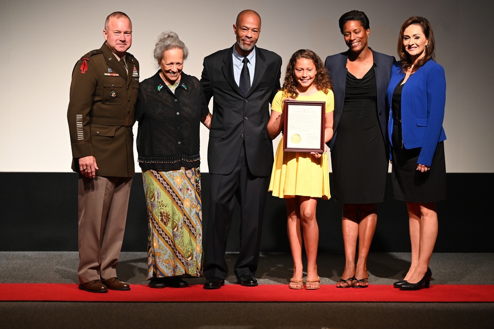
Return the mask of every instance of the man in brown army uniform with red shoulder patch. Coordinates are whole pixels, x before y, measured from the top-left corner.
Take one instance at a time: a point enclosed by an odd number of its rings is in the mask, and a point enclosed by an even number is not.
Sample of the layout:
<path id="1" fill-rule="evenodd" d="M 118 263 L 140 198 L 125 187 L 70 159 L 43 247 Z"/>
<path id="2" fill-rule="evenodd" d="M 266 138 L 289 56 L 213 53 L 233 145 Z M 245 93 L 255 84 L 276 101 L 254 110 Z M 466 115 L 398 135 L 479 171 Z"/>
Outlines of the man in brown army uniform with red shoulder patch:
<path id="1" fill-rule="evenodd" d="M 79 288 L 130 290 L 117 278 L 134 170 L 132 126 L 139 63 L 127 50 L 132 23 L 111 13 L 105 43 L 75 65 L 67 110 L 72 170 L 79 173 Z"/>

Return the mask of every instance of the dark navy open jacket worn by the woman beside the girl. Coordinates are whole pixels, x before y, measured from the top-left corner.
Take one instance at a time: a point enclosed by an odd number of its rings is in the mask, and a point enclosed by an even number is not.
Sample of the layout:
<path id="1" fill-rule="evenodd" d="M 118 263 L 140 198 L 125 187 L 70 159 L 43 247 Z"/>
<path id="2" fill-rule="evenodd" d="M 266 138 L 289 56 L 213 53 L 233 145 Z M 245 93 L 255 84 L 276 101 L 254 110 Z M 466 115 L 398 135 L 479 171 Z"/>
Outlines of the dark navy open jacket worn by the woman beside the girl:
<path id="1" fill-rule="evenodd" d="M 377 85 L 377 115 L 379 117 L 379 125 L 381 133 L 385 141 L 386 149 L 389 147 L 389 139 L 387 134 L 389 106 L 386 101 L 386 90 L 388 89 L 389 80 L 391 78 L 391 67 L 396 62 L 395 57 L 385 55 L 383 53 L 372 50 L 374 56 L 374 73 L 376 75 Z M 325 66 L 329 72 L 331 82 L 333 84 L 334 93 L 334 112 L 333 112 L 333 138 L 330 141 L 329 148 L 332 149 L 336 136 L 338 134 L 338 122 L 340 121 L 341 112 L 343 110 L 343 102 L 345 100 L 345 85 L 347 79 L 347 59 L 348 51 L 337 53 L 326 57 Z"/>

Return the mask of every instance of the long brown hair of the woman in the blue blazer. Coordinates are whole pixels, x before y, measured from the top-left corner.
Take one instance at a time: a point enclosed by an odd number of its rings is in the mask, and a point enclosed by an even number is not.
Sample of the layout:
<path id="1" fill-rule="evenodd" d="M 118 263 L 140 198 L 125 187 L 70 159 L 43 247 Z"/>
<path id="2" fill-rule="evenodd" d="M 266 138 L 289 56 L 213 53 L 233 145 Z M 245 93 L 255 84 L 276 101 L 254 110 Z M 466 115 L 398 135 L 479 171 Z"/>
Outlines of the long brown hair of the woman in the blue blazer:
<path id="1" fill-rule="evenodd" d="M 403 37 L 405 29 L 410 25 L 418 25 L 422 29 L 422 33 L 425 35 L 425 38 L 429 41 L 429 44 L 425 47 L 425 56 L 419 59 L 413 65 L 413 72 L 419 69 L 422 65 L 427 63 L 429 59 L 434 60 L 434 53 L 436 51 L 436 43 L 434 42 L 434 34 L 432 33 L 431 24 L 427 19 L 420 16 L 412 16 L 408 18 L 400 28 L 400 36 L 398 37 L 398 56 L 402 60 L 402 69 L 403 71 L 408 70 L 412 66 L 412 60 L 408 52 L 406 52 L 405 47 L 403 46 Z"/>

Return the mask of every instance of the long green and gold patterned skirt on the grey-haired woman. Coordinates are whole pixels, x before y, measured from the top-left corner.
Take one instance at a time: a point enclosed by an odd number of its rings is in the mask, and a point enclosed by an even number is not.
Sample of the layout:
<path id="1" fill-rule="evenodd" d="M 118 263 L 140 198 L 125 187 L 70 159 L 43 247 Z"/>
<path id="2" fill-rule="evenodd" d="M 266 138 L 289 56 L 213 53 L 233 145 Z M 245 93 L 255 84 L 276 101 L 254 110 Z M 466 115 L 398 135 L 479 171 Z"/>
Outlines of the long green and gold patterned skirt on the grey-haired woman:
<path id="1" fill-rule="evenodd" d="M 142 172 L 147 201 L 147 278 L 202 276 L 199 168 Z"/>

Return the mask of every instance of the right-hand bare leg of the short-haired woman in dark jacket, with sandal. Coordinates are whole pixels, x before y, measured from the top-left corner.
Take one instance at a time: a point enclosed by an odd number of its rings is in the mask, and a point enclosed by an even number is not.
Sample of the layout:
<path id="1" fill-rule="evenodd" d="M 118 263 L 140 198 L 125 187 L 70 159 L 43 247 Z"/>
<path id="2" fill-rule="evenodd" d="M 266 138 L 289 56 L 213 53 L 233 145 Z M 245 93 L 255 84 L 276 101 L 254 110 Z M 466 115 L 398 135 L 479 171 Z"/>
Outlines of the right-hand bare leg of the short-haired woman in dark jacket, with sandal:
<path id="1" fill-rule="evenodd" d="M 357 280 L 369 277 L 367 272 L 367 256 L 369 255 L 370 244 L 377 224 L 377 204 L 360 204 L 359 205 L 359 258 L 355 278 Z M 355 285 L 367 286 L 368 282 L 358 282 Z"/>

